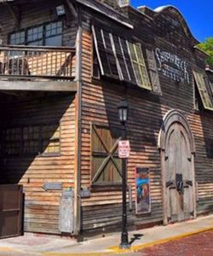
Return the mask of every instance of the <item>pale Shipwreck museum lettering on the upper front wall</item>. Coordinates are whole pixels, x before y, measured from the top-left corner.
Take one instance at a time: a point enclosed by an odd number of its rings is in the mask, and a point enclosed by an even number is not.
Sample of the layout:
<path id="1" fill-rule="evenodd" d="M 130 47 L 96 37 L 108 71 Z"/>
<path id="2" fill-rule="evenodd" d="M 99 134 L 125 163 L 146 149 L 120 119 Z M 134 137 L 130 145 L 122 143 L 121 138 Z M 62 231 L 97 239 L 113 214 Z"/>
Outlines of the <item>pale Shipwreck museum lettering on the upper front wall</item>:
<path id="1" fill-rule="evenodd" d="M 155 49 L 155 55 L 158 62 L 158 71 L 161 71 L 165 77 L 176 82 L 190 84 L 187 61 L 183 61 L 177 55 L 159 48 Z"/>

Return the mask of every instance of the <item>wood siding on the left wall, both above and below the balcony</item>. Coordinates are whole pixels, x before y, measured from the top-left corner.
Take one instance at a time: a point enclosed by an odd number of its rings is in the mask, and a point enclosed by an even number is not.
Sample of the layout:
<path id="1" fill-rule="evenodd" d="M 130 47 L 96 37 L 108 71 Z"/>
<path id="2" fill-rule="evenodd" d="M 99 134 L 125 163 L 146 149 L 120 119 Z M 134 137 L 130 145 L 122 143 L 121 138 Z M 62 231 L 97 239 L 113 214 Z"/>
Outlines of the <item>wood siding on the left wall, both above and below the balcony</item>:
<path id="1" fill-rule="evenodd" d="M 13 3 L 11 3 L 13 4 Z M 66 15 L 58 17 L 56 6 L 65 4 Z M 21 3 L 9 9 L 1 4 L 0 28 L 3 44 L 9 44 L 9 34 L 43 23 L 62 20 L 62 46 L 75 46 L 77 23 L 66 3 L 61 0 Z M 13 13 L 14 12 L 14 13 Z M 60 61 L 60 64 L 63 60 Z M 74 65 L 75 57 L 72 59 Z M 40 63 L 39 63 L 40 64 Z M 48 65 L 43 61 L 42 65 Z M 74 75 L 75 70 L 72 70 Z M 13 93 L 12 93 L 13 94 Z M 60 155 L 1 157 L 1 183 L 20 183 L 25 192 L 25 230 L 59 234 L 59 204 L 61 191 L 44 191 L 45 182 L 62 183 L 62 189 L 74 187 L 75 157 L 75 96 L 58 94 L 15 93 L 14 98 L 1 101 L 1 125 L 35 125 L 60 122 Z"/>

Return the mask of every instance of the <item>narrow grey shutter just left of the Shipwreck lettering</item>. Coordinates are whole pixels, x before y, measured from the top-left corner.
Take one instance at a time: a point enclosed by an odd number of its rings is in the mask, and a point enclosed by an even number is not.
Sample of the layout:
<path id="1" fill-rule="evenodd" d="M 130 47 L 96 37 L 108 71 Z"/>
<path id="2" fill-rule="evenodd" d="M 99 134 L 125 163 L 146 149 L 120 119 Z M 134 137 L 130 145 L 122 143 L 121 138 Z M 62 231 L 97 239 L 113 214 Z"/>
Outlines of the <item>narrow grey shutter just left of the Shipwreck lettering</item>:
<path id="1" fill-rule="evenodd" d="M 158 68 L 157 68 L 153 49 L 146 49 L 146 52 L 147 52 L 148 72 L 149 72 L 151 83 L 153 86 L 153 91 L 158 94 L 162 94 L 159 77 L 158 77 Z"/>

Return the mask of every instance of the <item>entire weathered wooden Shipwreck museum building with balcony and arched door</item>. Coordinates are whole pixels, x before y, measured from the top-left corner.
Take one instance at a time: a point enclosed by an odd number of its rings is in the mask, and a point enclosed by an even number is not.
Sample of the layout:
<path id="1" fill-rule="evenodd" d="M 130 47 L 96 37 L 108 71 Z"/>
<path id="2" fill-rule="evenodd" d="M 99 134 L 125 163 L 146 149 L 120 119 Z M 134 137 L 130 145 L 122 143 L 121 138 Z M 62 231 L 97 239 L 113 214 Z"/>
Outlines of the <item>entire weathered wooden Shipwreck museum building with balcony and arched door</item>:
<path id="1" fill-rule="evenodd" d="M 123 98 L 130 228 L 212 212 L 213 68 L 178 9 L 14 0 L 0 11 L 0 183 L 23 185 L 25 231 L 120 228 Z"/>

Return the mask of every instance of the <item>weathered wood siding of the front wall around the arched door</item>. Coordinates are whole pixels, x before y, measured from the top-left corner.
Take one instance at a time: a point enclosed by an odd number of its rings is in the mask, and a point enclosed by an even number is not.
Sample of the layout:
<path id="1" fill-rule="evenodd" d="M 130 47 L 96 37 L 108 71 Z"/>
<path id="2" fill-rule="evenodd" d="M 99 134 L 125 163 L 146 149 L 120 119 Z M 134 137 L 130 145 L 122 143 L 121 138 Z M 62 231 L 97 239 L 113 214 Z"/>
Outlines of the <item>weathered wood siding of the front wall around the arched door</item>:
<path id="1" fill-rule="evenodd" d="M 88 13 L 84 13 L 89 20 Z M 153 22 L 138 11 L 130 11 L 130 20 L 135 24 L 133 37 L 142 48 L 156 47 L 168 50 L 187 61 L 190 67 L 204 68 L 204 58 L 194 52 L 189 38 L 180 29 L 174 35 L 165 32 L 164 16 L 158 16 Z M 177 17 L 178 20 L 178 17 Z M 159 23 L 159 21 L 162 21 Z M 159 73 L 162 96 L 140 88 L 129 87 L 116 82 L 104 82 L 92 79 L 93 39 L 89 22 L 83 23 L 83 117 L 82 117 L 82 187 L 90 187 L 90 124 L 91 122 L 109 125 L 118 124 L 118 102 L 126 96 L 130 103 L 130 118 L 127 124 L 131 154 L 128 160 L 128 184 L 133 188 L 133 212 L 128 212 L 128 221 L 134 225 L 150 224 L 162 221 L 161 163 L 158 152 L 158 132 L 164 115 L 170 109 L 180 109 L 192 127 L 196 143 L 196 182 L 198 183 L 198 212 L 210 212 L 213 200 L 212 158 L 206 153 L 206 141 L 213 138 L 213 113 L 194 110 L 193 76 L 190 72 L 190 84 L 179 84 Z M 109 20 L 108 26 L 114 27 Z M 127 31 L 126 34 L 129 32 Z M 176 44 L 178 42 L 178 44 Z M 150 168 L 151 213 L 135 215 L 135 166 Z M 83 199 L 83 230 L 107 229 L 121 223 L 121 189 L 98 191 L 92 189 L 91 197 Z"/>

